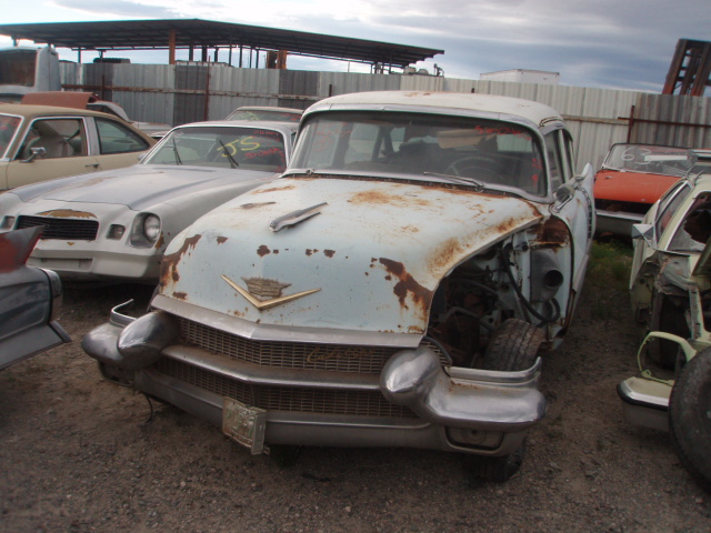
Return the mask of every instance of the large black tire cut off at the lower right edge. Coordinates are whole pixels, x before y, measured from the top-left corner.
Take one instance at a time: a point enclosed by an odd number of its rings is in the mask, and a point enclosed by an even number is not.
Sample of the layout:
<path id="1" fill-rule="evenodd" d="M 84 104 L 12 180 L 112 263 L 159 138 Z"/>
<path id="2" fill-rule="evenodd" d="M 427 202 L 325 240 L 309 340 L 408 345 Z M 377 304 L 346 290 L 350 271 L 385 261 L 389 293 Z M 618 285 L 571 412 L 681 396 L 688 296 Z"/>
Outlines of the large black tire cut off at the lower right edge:
<path id="1" fill-rule="evenodd" d="M 711 492 L 711 348 L 679 373 L 669 401 L 669 430 L 681 464 Z"/>

